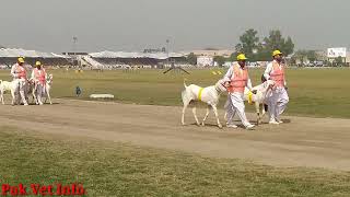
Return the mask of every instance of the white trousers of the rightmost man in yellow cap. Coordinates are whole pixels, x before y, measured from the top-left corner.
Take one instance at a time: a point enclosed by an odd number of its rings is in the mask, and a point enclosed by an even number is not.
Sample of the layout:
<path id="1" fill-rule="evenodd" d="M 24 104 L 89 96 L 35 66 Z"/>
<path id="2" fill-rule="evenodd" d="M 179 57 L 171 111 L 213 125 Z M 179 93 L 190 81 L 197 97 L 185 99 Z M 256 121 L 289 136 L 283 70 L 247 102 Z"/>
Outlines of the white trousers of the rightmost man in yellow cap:
<path id="1" fill-rule="evenodd" d="M 280 118 L 280 115 L 283 114 L 288 102 L 289 96 L 284 88 L 277 88 L 272 91 L 271 96 L 268 99 L 268 109 L 271 120 Z"/>

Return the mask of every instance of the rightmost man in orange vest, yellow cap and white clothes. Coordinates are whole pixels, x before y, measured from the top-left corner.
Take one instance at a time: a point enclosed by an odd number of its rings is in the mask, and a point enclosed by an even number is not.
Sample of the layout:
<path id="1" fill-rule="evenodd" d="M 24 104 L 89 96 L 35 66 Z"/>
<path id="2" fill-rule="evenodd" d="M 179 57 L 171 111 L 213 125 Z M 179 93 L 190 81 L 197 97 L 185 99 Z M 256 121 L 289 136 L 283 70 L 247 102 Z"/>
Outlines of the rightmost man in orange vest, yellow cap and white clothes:
<path id="1" fill-rule="evenodd" d="M 284 76 L 284 66 L 282 63 L 283 54 L 280 50 L 272 53 L 273 60 L 270 62 L 264 72 L 264 77 L 267 80 L 273 80 L 276 85 L 272 90 L 272 94 L 269 97 L 269 124 L 278 125 L 283 121 L 280 119 L 280 115 L 284 112 L 289 102 L 287 93 L 287 82 Z"/>

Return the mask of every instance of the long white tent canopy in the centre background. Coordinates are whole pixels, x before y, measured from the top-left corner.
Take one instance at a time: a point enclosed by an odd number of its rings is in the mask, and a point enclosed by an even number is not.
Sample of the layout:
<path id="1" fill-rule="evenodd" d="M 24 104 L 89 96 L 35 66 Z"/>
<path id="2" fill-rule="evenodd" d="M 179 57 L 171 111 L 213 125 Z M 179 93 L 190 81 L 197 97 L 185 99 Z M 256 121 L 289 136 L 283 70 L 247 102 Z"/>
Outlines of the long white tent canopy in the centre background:
<path id="1" fill-rule="evenodd" d="M 144 54 L 144 53 L 126 53 L 126 51 L 101 51 L 89 54 L 93 58 L 152 58 L 152 59 L 167 59 L 167 54 Z M 170 58 L 184 57 L 185 54 L 170 53 Z"/>

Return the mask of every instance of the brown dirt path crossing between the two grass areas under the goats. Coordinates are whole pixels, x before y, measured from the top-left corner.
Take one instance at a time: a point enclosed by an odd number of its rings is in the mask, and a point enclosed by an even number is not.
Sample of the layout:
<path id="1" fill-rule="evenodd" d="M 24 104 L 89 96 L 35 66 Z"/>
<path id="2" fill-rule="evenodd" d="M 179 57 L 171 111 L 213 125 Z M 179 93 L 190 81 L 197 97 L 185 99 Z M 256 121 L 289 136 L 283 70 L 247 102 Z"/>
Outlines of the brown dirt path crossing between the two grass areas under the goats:
<path id="1" fill-rule="evenodd" d="M 59 104 L 1 106 L 0 124 L 206 157 L 248 159 L 278 166 L 350 170 L 350 119 L 287 117 L 288 124 L 261 125 L 253 131 L 242 128 L 220 130 L 213 126 L 180 126 L 179 107 L 56 102 Z M 203 113 L 198 109 L 200 116 Z M 194 123 L 190 109 L 186 119 Z M 213 123 L 211 114 L 208 124 Z"/>

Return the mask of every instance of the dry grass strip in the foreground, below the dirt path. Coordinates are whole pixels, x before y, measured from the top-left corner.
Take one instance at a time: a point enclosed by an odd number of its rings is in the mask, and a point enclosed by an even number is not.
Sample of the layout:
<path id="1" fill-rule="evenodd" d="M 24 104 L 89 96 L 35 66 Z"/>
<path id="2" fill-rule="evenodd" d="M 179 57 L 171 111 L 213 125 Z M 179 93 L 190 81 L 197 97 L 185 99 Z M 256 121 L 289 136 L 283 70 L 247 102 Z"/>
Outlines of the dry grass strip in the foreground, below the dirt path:
<path id="1" fill-rule="evenodd" d="M 88 196 L 349 196 L 350 173 L 272 167 L 241 160 L 0 128 L 2 184 L 81 183 Z M 30 192 L 31 189 L 27 189 Z"/>

